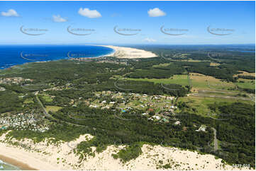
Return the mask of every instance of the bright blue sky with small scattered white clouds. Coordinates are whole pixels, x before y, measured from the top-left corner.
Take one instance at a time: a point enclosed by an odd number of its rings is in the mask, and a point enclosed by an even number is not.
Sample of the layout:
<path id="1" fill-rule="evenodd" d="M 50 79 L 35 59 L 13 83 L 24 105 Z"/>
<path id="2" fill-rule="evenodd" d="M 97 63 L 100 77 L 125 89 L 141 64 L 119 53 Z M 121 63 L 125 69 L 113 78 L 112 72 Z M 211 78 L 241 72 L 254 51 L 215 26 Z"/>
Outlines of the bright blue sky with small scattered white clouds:
<path id="1" fill-rule="evenodd" d="M 0 1 L 0 44 L 255 44 L 255 1 Z"/>

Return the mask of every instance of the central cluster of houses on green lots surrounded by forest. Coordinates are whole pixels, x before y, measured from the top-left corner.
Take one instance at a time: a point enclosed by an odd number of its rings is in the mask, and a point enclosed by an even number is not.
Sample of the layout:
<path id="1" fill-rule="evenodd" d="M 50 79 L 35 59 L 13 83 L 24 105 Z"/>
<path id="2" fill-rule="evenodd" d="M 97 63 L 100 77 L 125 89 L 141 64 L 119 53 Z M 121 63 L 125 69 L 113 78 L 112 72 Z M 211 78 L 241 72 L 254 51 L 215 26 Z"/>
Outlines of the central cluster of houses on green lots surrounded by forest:
<path id="1" fill-rule="evenodd" d="M 94 98 L 85 100 L 89 107 L 101 109 L 116 107 L 123 114 L 130 110 L 142 110 L 144 116 L 157 122 L 168 123 L 170 117 L 173 119 L 178 110 L 178 107 L 173 105 L 177 98 L 171 96 L 111 91 L 97 92 L 94 95 Z M 180 122 L 177 121 L 175 124 L 180 124 Z"/>

